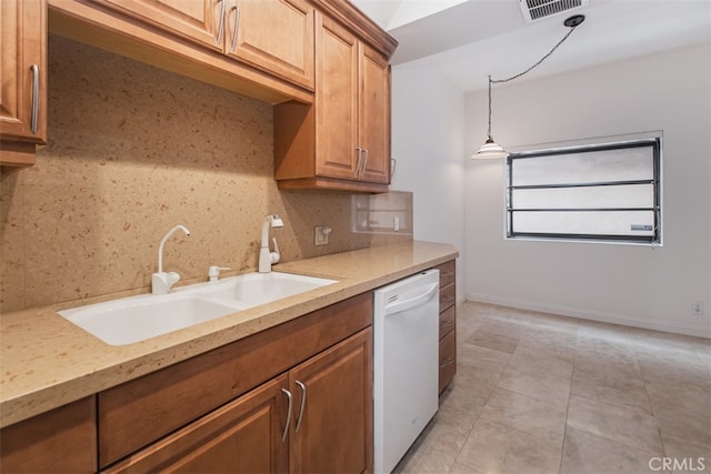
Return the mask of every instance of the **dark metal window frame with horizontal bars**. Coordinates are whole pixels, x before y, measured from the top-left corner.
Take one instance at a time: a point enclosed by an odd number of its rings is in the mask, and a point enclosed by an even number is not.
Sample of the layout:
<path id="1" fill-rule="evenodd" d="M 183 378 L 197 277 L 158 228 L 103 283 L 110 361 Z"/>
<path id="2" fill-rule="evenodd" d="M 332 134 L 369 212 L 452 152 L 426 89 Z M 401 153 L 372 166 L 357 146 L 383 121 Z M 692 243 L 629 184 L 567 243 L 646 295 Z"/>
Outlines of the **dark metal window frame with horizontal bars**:
<path id="1" fill-rule="evenodd" d="M 579 183 L 555 183 L 555 184 L 527 184 L 514 185 L 513 178 L 515 162 L 518 160 L 535 159 L 541 157 L 554 157 L 561 154 L 583 154 L 589 152 L 604 152 L 613 150 L 624 150 L 630 148 L 652 149 L 652 178 L 641 180 L 608 180 L 598 182 Z M 517 209 L 512 206 L 513 191 L 525 189 L 572 189 L 572 188 L 594 188 L 609 185 L 635 185 L 652 184 L 652 206 L 651 208 L 541 208 L 541 209 Z M 654 135 L 635 140 L 619 142 L 572 145 L 555 149 L 544 149 L 534 151 L 514 152 L 505 159 L 505 239 L 507 240 L 555 240 L 567 242 L 599 242 L 599 243 L 629 243 L 641 245 L 662 244 L 662 138 Z M 515 212 L 617 212 L 617 211 L 651 211 L 653 213 L 653 229 L 650 235 L 625 235 L 609 233 L 561 233 L 561 232 L 520 232 L 515 231 Z"/>

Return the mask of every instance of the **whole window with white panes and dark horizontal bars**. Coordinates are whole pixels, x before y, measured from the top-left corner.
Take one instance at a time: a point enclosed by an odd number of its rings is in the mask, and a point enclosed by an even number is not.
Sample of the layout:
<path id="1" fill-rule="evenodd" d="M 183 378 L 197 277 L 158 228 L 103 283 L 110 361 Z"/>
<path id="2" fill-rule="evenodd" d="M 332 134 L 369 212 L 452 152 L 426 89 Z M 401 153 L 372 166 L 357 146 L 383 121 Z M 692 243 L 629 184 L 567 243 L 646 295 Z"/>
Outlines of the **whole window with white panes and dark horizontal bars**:
<path id="1" fill-rule="evenodd" d="M 661 139 L 507 159 L 507 236 L 661 243 Z"/>

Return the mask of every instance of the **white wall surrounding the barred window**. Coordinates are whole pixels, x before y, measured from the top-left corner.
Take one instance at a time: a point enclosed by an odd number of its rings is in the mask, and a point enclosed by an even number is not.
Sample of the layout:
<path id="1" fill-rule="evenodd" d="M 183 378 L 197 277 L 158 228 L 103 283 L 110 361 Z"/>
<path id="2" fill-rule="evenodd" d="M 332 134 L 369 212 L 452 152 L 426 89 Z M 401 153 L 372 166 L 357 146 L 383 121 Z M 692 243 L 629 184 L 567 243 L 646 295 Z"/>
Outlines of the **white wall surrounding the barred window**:
<path id="1" fill-rule="evenodd" d="M 663 131 L 663 246 L 507 241 L 501 161 L 467 165 L 467 295 L 711 336 L 709 43 L 493 89 L 509 149 Z M 485 138 L 487 95 L 467 95 L 467 143 Z M 704 315 L 692 315 L 694 301 Z"/>

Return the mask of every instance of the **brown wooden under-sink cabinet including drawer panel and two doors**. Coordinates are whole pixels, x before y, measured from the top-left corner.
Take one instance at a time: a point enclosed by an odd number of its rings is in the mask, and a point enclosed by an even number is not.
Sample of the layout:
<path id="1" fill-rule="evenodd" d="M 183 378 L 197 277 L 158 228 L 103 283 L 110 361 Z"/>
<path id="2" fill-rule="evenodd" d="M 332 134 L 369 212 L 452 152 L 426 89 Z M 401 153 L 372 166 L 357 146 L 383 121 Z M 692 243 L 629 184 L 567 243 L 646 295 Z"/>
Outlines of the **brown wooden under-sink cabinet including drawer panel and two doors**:
<path id="1" fill-rule="evenodd" d="M 370 470 L 371 324 L 361 294 L 101 392 L 100 467 Z"/>

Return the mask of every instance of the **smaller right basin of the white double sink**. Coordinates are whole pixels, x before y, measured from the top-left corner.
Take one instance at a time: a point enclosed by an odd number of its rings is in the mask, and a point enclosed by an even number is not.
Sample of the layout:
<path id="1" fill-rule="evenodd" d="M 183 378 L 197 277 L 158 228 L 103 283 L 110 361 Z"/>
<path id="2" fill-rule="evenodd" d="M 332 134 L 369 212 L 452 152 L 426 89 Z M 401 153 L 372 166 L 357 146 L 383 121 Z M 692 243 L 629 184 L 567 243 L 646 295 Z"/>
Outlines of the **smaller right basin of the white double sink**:
<path id="1" fill-rule="evenodd" d="M 244 273 L 220 280 L 218 283 L 207 283 L 201 294 L 219 300 L 237 301 L 247 307 L 252 307 L 331 283 L 338 282 L 280 272 Z"/>

